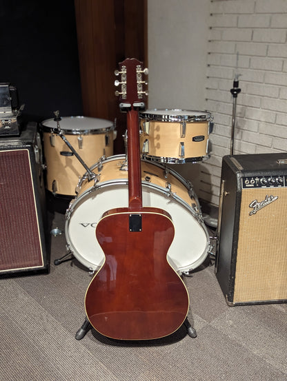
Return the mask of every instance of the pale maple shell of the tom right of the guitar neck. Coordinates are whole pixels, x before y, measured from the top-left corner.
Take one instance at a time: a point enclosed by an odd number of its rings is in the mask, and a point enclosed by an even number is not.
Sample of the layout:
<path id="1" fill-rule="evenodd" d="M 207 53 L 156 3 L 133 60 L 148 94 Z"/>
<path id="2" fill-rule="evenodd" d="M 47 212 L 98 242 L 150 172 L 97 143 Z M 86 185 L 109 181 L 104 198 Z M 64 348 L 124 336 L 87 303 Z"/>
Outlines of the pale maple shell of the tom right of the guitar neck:
<path id="1" fill-rule="evenodd" d="M 208 122 L 186 123 L 186 135 L 181 137 L 181 123 L 149 121 L 149 133 L 144 132 L 141 119 L 140 137 L 141 151 L 144 156 L 154 158 L 202 158 L 208 154 Z M 196 136 L 201 136 L 202 141 L 195 141 Z M 144 152 L 143 146 L 148 140 L 148 152 Z M 184 143 L 184 156 L 180 156 L 181 143 Z"/>

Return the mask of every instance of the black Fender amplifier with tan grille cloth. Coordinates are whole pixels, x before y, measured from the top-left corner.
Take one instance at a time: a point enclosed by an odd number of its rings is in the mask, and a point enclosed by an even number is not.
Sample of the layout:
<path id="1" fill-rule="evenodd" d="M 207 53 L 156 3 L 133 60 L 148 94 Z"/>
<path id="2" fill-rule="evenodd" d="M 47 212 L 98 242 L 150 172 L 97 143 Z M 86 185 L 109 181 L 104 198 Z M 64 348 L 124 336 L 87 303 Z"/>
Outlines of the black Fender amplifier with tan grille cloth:
<path id="1" fill-rule="evenodd" d="M 287 153 L 224 156 L 217 237 L 228 305 L 287 301 Z"/>

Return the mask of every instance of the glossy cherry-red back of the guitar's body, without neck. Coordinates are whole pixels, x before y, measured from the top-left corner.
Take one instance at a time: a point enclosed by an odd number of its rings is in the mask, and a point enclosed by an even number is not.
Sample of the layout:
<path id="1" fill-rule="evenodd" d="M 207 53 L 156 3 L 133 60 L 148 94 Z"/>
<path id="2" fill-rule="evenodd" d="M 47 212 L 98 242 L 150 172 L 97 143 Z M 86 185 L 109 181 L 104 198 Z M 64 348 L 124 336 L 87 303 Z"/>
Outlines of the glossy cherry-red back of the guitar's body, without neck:
<path id="1" fill-rule="evenodd" d="M 167 336 L 188 311 L 186 287 L 166 260 L 173 224 L 164 214 L 144 209 L 141 231 L 129 231 L 127 208 L 111 211 L 97 225 L 106 262 L 88 287 L 86 313 L 92 326 L 110 338 Z"/>

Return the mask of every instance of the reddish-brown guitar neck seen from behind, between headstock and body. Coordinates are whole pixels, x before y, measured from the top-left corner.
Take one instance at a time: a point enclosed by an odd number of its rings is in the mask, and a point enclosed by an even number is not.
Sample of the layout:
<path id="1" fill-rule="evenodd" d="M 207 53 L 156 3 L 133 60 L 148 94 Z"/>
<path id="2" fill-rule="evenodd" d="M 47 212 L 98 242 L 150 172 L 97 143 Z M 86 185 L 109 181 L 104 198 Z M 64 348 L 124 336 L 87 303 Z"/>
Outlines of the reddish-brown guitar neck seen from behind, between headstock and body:
<path id="1" fill-rule="evenodd" d="M 128 208 L 132 211 L 141 209 L 141 158 L 139 150 L 139 114 L 136 110 L 128 111 Z"/>

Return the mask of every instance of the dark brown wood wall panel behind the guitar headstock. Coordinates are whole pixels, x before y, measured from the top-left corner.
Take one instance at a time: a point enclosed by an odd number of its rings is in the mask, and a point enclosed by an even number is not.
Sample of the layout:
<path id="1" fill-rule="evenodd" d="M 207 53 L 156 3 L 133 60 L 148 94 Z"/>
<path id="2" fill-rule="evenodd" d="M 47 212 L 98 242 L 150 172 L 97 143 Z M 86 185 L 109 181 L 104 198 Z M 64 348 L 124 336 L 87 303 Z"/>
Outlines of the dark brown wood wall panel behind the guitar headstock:
<path id="1" fill-rule="evenodd" d="M 147 65 L 146 0 L 75 0 L 83 114 L 117 119 L 115 154 L 123 152 L 126 118 L 115 96 L 117 65 L 135 57 Z"/>

